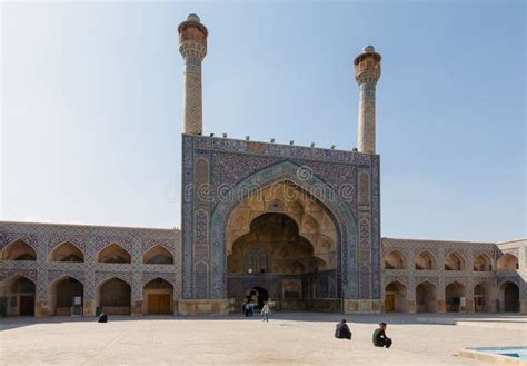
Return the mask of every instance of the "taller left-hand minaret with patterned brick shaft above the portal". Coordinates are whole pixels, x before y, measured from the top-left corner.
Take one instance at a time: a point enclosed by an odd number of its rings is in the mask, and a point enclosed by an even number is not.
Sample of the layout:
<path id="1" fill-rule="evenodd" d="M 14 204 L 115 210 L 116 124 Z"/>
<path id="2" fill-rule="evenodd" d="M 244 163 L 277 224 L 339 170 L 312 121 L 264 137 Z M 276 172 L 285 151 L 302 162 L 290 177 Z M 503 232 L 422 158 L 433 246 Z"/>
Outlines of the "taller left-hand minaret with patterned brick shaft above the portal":
<path id="1" fill-rule="evenodd" d="M 199 17 L 189 14 L 179 24 L 179 52 L 185 59 L 183 133 L 201 135 L 201 61 L 207 55 L 207 28 Z"/>

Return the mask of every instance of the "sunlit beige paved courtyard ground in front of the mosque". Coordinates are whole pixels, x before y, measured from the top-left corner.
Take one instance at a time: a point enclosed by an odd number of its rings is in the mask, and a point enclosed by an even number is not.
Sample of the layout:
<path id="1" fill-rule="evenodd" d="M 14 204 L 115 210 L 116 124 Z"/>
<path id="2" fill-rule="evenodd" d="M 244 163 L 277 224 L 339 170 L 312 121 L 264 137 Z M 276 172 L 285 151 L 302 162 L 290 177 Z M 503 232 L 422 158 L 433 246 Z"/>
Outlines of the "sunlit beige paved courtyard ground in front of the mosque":
<path id="1" fill-rule="evenodd" d="M 276 314 L 268 323 L 215 318 L 0 319 L 0 365 L 486 365 L 463 347 L 527 345 L 527 317 L 467 317 L 466 325 L 417 323 L 422 315 L 346 316 L 352 342 L 335 339 L 339 315 Z M 453 319 L 430 315 L 425 318 Z M 390 349 L 371 345 L 380 320 Z M 477 327 L 484 324 L 486 328 Z M 488 328 L 487 324 L 493 324 Z M 501 327 L 500 325 L 506 325 Z"/>

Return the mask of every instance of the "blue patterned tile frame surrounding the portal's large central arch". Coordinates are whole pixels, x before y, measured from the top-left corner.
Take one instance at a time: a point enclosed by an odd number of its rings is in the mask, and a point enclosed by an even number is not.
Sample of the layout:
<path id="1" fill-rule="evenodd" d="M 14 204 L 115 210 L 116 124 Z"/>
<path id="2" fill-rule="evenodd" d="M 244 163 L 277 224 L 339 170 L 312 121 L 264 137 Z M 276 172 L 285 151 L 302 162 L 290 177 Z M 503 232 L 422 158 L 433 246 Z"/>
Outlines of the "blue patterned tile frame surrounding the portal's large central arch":
<path id="1" fill-rule="evenodd" d="M 292 181 L 306 191 L 319 195 L 317 198 L 338 222 L 341 290 L 346 298 L 358 298 L 358 169 L 370 176 L 368 217 L 376 218 L 375 224 L 370 225 L 366 264 L 368 273 L 364 286 L 368 287 L 368 298 L 380 298 L 380 191 L 379 175 L 375 171 L 379 169 L 377 156 L 189 135 L 182 136 L 182 156 L 183 298 L 195 298 L 198 293 L 202 297 L 203 289 L 195 287 L 201 283 L 207 286 L 208 298 L 227 298 L 226 220 L 236 204 L 245 198 L 243 194 L 281 180 Z M 205 161 L 208 162 L 208 175 L 203 172 Z M 298 175 L 299 171 L 305 172 L 306 177 Z M 202 186 L 205 180 L 208 180 L 206 189 L 197 187 L 198 182 Z M 317 190 L 314 187 L 325 189 Z M 331 197 L 326 197 L 326 192 Z M 203 201 L 208 205 L 203 205 Z M 199 266 L 200 276 L 206 269 L 209 270 L 205 281 L 195 278 L 198 264 L 196 251 L 200 250 L 195 247 L 195 243 L 198 241 L 210 245 L 210 257 L 199 257 L 200 263 L 207 260 L 207 267 Z"/>

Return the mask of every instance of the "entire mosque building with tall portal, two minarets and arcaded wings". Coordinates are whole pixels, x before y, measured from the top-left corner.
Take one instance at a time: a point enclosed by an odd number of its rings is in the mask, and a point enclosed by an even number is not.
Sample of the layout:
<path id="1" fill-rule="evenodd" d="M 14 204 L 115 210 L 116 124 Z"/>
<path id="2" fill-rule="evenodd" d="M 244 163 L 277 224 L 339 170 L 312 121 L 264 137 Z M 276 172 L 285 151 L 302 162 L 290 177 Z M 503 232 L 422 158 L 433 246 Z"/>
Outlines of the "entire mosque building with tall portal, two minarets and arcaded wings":
<path id="1" fill-rule="evenodd" d="M 357 148 L 338 150 L 203 136 L 208 30 L 190 14 L 178 32 L 181 229 L 0 221 L 1 316 L 215 315 L 247 297 L 277 310 L 527 313 L 527 239 L 381 238 L 374 47 L 354 62 Z"/>

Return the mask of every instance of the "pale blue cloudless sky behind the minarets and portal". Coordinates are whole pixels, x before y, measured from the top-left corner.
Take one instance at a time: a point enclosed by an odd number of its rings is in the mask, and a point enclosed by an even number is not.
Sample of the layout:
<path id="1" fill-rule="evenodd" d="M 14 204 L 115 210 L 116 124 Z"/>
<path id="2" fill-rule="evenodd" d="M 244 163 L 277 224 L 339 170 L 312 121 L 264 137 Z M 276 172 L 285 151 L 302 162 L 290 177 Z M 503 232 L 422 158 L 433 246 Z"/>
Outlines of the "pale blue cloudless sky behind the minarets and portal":
<path id="1" fill-rule="evenodd" d="M 1 7 L 2 219 L 180 226 L 177 27 L 196 12 L 205 133 L 351 149 L 374 44 L 382 236 L 526 235 L 524 1 Z"/>

